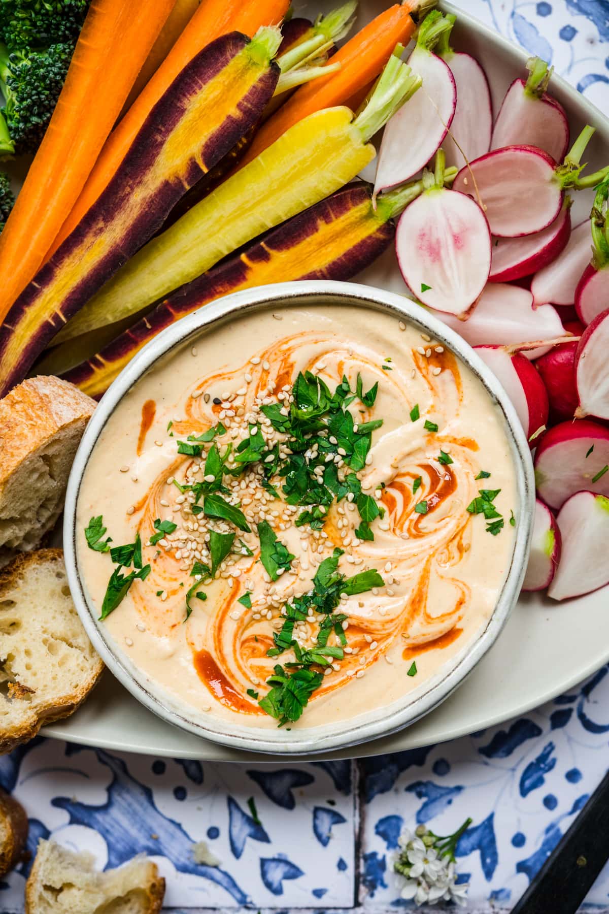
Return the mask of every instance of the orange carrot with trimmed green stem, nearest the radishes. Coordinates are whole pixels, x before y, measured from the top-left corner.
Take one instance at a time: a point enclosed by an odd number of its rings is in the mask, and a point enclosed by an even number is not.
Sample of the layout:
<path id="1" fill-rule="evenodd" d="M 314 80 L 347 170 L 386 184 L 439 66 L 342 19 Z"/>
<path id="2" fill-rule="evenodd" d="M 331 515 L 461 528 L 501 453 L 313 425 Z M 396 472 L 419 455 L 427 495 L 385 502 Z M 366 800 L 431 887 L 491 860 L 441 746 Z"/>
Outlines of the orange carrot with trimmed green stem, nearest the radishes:
<path id="1" fill-rule="evenodd" d="M 262 124 L 237 168 L 255 159 L 302 118 L 322 108 L 347 104 L 365 90 L 394 53 L 395 45 L 406 45 L 413 37 L 416 26 L 410 14 L 419 5 L 420 0 L 404 0 L 364 26 L 332 57 L 332 63 L 340 63 L 341 69 L 306 83 L 294 92 L 278 112 Z"/>

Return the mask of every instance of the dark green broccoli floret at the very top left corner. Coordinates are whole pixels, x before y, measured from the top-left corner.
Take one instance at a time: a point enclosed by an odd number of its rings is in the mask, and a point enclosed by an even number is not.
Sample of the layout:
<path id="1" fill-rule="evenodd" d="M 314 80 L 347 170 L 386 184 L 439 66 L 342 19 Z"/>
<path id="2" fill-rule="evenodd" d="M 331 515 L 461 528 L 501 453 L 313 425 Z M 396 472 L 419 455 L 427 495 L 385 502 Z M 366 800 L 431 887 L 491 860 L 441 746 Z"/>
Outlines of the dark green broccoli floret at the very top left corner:
<path id="1" fill-rule="evenodd" d="M 75 43 L 89 0 L 0 0 L 0 33 L 12 51 Z"/>

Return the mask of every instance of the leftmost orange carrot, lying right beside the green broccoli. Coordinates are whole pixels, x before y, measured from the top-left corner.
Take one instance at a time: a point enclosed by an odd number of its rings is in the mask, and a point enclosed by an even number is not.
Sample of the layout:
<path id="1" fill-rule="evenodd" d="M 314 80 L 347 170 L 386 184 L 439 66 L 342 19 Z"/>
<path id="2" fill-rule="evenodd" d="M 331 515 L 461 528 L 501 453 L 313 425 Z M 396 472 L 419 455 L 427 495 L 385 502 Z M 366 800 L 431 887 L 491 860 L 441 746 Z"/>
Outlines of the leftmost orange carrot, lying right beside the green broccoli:
<path id="1" fill-rule="evenodd" d="M 172 5 L 91 3 L 47 133 L 0 236 L 0 321 L 44 262 Z"/>

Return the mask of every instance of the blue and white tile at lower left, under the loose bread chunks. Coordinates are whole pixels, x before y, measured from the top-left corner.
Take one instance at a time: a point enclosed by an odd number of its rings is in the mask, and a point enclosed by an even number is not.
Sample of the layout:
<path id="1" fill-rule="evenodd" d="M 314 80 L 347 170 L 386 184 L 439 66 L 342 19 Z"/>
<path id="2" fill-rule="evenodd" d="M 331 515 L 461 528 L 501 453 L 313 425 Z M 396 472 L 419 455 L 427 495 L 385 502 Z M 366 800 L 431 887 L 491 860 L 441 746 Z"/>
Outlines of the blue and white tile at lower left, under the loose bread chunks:
<path id="1" fill-rule="evenodd" d="M 169 908 L 351 907 L 352 780 L 351 762 L 202 764 L 43 739 L 0 760 L 0 783 L 30 817 L 30 851 L 51 836 L 102 869 L 143 852 Z M 0 885 L 3 912 L 22 910 L 27 871 Z"/>

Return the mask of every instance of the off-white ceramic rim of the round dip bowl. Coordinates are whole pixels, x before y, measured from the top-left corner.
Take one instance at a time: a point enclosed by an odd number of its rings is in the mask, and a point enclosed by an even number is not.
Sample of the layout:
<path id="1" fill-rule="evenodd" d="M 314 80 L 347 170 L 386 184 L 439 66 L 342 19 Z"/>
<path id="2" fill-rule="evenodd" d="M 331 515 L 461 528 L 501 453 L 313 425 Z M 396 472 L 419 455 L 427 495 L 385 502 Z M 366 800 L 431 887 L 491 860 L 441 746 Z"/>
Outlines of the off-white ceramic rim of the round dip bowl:
<path id="1" fill-rule="evenodd" d="M 196 711 L 193 708 L 189 713 L 185 703 L 181 703 L 179 700 L 174 702 L 173 696 L 162 686 L 152 681 L 142 670 L 138 670 L 135 664 L 131 664 L 128 655 L 113 642 L 109 633 L 104 633 L 96 612 L 89 605 L 77 560 L 76 515 L 80 484 L 100 433 L 121 399 L 146 371 L 171 350 L 187 345 L 189 337 L 198 335 L 204 329 L 209 329 L 211 324 L 226 319 L 228 315 L 248 314 L 252 311 L 283 305 L 306 306 L 311 299 L 333 299 L 329 303 L 372 308 L 394 314 L 397 319 L 405 319 L 422 332 L 432 335 L 440 343 L 446 345 L 477 375 L 491 399 L 499 406 L 503 416 L 505 433 L 514 464 L 518 512 L 509 570 L 499 593 L 499 599 L 486 627 L 478 632 L 473 643 L 468 644 L 466 653 L 459 652 L 451 658 L 447 662 L 444 674 L 440 671 L 440 674 L 426 680 L 421 686 L 421 694 L 415 698 L 411 697 L 408 700 L 408 696 L 412 696 L 412 693 L 406 693 L 402 699 L 396 699 L 392 705 L 386 706 L 388 713 L 373 716 L 371 714 L 373 709 L 371 709 L 362 715 L 365 719 L 359 724 L 354 724 L 353 719 L 344 719 L 339 724 L 333 724 L 331 728 L 327 725 L 302 730 L 292 728 L 287 735 L 285 730 L 257 730 L 256 728 L 246 728 L 245 725 L 240 727 L 231 721 L 215 717 L 213 714 L 208 716 L 206 722 L 203 722 L 200 718 L 205 717 L 204 712 Z M 518 600 L 530 550 L 534 502 L 535 485 L 530 447 L 516 411 L 497 378 L 461 336 L 446 324 L 441 323 L 421 305 L 394 292 L 384 292 L 372 286 L 353 282 L 282 282 L 235 292 L 205 305 L 205 308 L 201 308 L 193 314 L 184 316 L 145 345 L 111 384 L 89 420 L 68 479 L 63 528 L 68 584 L 89 640 L 110 672 L 116 676 L 121 685 L 131 692 L 132 696 L 158 717 L 204 739 L 224 743 L 236 749 L 294 756 L 315 755 L 387 736 L 415 723 L 417 719 L 444 701 L 471 673 L 499 636 L 499 632 L 509 618 L 509 613 Z M 400 707 L 396 708 L 396 706 Z M 394 708 L 394 710 L 389 711 L 390 708 Z M 199 719 L 196 719 L 197 717 Z M 370 719 L 371 717 L 373 719 Z M 354 719 L 357 720 L 357 718 Z"/>

